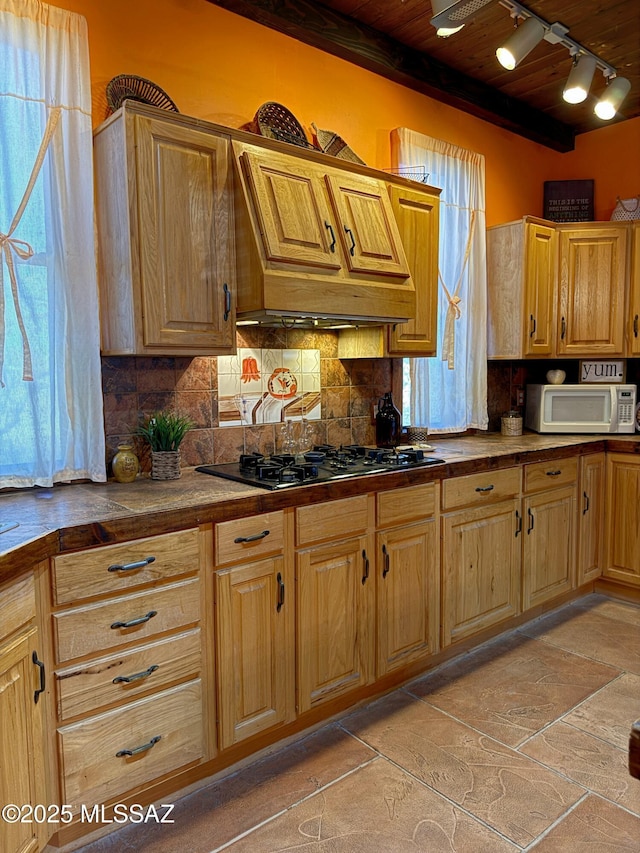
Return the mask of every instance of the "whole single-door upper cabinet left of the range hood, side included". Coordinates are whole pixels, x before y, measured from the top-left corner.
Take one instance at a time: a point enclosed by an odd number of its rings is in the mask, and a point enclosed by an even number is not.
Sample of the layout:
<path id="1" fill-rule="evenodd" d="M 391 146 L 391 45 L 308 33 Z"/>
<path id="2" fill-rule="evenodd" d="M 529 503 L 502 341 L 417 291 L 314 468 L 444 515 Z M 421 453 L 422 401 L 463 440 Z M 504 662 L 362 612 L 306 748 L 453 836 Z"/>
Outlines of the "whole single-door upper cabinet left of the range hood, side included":
<path id="1" fill-rule="evenodd" d="M 235 348 L 229 137 L 128 101 L 96 131 L 102 351 Z"/>

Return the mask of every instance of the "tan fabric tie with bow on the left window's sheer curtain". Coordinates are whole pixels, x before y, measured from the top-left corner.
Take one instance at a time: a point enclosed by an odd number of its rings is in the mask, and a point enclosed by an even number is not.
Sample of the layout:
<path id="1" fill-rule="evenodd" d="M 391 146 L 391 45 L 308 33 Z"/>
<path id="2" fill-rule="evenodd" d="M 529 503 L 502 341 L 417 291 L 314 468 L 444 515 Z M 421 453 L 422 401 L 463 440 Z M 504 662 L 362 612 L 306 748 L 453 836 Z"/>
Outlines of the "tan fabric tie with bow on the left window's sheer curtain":
<path id="1" fill-rule="evenodd" d="M 18 321 L 18 328 L 20 329 L 20 334 L 22 336 L 22 378 L 26 382 L 33 381 L 33 367 L 31 364 L 31 347 L 29 346 L 29 337 L 27 335 L 27 330 L 24 325 L 24 320 L 22 317 L 22 310 L 20 308 L 20 295 L 18 292 L 18 278 L 16 276 L 16 269 L 14 264 L 14 254 L 20 258 L 22 261 L 28 261 L 29 258 L 33 257 L 33 248 L 27 243 L 25 240 L 18 240 L 16 237 L 12 237 L 11 235 L 16 230 L 18 225 L 20 224 L 20 220 L 22 219 L 22 214 L 25 211 L 25 208 L 31 198 L 31 193 L 33 192 L 33 188 L 35 186 L 36 180 L 38 179 L 38 175 L 40 174 L 40 169 L 42 168 L 42 163 L 44 160 L 44 156 L 47 153 L 47 148 L 49 147 L 49 143 L 51 142 L 51 138 L 55 132 L 55 129 L 58 125 L 58 120 L 60 118 L 61 107 L 54 107 L 49 113 L 49 117 L 47 119 L 47 126 L 44 130 L 44 136 L 42 137 L 42 142 L 40 143 L 40 148 L 38 150 L 38 155 L 36 157 L 35 163 L 33 164 L 33 169 L 31 170 L 31 175 L 29 177 L 29 183 L 27 184 L 27 188 L 24 191 L 24 195 L 22 196 L 22 201 L 20 202 L 18 209 L 13 217 L 13 221 L 9 226 L 9 230 L 6 234 L 0 232 L 0 252 L 2 256 L 4 256 L 5 263 L 7 264 L 7 269 L 9 270 L 9 281 L 11 282 L 11 295 L 13 296 L 13 304 L 16 311 L 16 319 Z M 4 366 L 4 339 L 5 339 L 5 318 L 4 318 L 4 279 L 2 273 L 2 261 L 0 259 L 0 387 L 4 388 L 4 382 L 2 381 L 2 368 Z"/>

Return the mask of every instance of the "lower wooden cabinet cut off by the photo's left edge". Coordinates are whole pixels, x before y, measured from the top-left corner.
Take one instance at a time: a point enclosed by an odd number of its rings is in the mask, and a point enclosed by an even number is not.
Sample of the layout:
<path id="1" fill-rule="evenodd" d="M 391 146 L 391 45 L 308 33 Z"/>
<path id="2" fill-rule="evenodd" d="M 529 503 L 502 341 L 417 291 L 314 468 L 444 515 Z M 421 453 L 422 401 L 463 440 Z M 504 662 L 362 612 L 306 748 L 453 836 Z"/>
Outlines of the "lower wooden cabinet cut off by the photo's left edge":
<path id="1" fill-rule="evenodd" d="M 47 804 L 40 693 L 40 638 L 31 573 L 0 586 L 0 805 Z M 22 812 L 25 818 L 31 818 Z M 3 853 L 34 853 L 46 822 L 0 819 Z"/>

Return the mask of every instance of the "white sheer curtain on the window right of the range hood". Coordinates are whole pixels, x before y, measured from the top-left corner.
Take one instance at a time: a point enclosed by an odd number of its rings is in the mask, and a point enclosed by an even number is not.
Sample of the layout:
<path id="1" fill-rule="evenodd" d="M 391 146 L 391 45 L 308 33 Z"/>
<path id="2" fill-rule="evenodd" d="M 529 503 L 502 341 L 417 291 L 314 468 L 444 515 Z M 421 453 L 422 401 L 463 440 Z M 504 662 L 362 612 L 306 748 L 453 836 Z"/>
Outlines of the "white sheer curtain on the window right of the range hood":
<path id="1" fill-rule="evenodd" d="M 438 354 L 405 360 L 403 409 L 412 426 L 429 432 L 486 429 L 487 273 L 484 157 L 397 128 L 393 164 L 424 168 L 440 187 Z"/>

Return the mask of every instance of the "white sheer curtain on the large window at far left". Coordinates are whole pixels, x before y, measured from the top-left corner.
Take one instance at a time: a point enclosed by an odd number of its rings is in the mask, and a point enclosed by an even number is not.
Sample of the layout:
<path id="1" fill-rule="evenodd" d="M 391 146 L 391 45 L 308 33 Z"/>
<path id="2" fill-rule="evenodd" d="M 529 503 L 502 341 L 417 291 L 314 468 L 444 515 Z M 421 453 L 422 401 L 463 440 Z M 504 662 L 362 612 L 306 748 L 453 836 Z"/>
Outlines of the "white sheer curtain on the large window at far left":
<path id="1" fill-rule="evenodd" d="M 103 481 L 86 22 L 0 0 L 0 488 Z"/>

